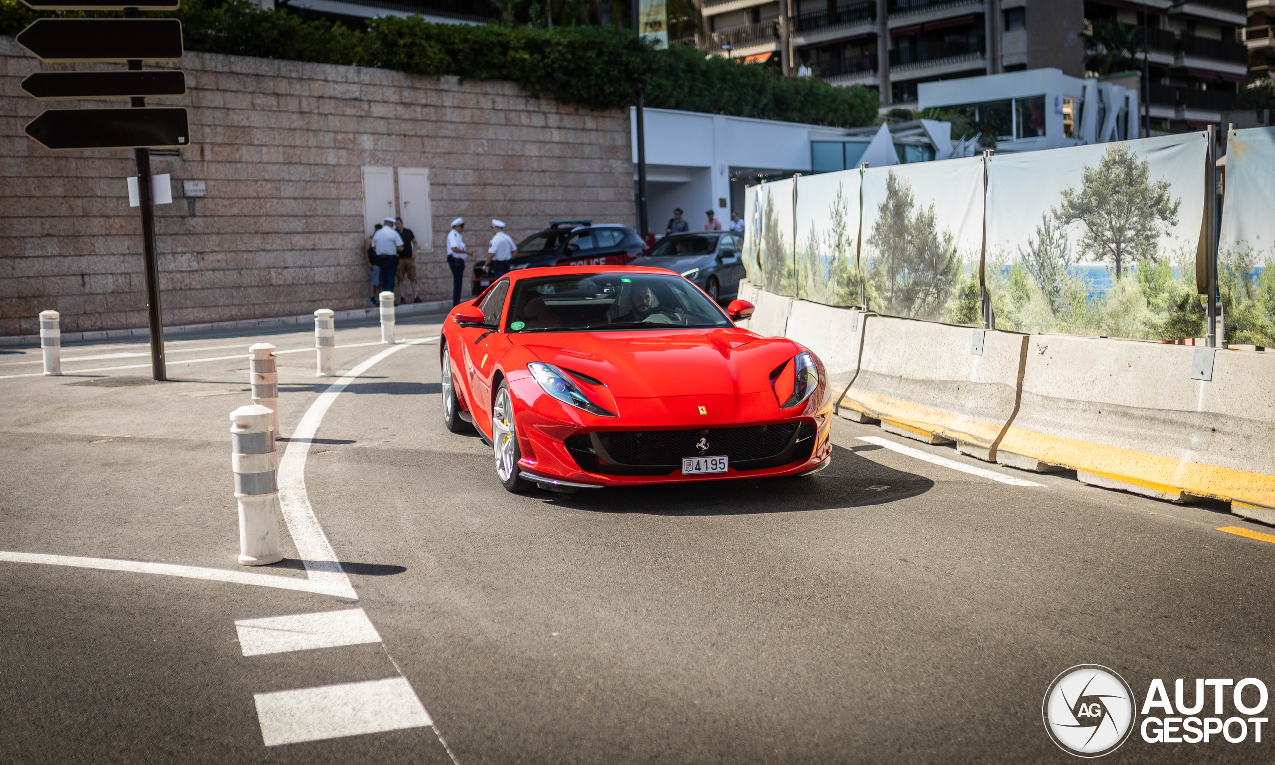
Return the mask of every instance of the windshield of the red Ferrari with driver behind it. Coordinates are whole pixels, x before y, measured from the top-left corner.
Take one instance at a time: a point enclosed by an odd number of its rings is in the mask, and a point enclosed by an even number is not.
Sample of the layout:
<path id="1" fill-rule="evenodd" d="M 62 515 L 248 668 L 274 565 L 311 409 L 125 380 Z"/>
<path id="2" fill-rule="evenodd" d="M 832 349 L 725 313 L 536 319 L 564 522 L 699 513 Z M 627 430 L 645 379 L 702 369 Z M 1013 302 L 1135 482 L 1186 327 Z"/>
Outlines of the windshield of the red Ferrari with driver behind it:
<path id="1" fill-rule="evenodd" d="M 732 326 L 695 284 L 673 274 L 594 273 L 519 279 L 506 332 Z"/>

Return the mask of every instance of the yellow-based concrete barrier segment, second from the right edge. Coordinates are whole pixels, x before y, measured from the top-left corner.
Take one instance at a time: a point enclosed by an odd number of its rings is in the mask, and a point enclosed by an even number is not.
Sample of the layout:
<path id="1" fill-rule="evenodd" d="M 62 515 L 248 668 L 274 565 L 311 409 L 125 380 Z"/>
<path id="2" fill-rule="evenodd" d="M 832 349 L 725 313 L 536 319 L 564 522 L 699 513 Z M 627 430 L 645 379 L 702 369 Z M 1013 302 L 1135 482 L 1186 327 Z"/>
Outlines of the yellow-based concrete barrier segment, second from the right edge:
<path id="1" fill-rule="evenodd" d="M 1017 407 L 1028 335 L 875 315 L 864 316 L 863 333 L 858 375 L 839 412 L 996 460 Z"/>

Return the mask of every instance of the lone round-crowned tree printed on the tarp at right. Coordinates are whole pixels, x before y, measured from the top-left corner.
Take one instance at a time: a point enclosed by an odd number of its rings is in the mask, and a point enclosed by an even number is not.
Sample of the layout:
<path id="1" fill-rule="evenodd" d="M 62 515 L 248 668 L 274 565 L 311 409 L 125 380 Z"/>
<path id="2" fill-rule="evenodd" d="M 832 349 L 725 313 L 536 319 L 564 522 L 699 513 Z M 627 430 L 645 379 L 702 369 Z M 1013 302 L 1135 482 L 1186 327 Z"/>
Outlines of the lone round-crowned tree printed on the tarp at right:
<path id="1" fill-rule="evenodd" d="M 1158 258 L 1160 235 L 1178 223 L 1169 182 L 1151 181 L 1151 163 L 1113 143 L 1098 167 L 1084 167 L 1080 189 L 1065 189 L 1053 214 L 1063 227 L 1084 227 L 1081 251 L 1107 261 L 1121 278 L 1126 265 Z"/>

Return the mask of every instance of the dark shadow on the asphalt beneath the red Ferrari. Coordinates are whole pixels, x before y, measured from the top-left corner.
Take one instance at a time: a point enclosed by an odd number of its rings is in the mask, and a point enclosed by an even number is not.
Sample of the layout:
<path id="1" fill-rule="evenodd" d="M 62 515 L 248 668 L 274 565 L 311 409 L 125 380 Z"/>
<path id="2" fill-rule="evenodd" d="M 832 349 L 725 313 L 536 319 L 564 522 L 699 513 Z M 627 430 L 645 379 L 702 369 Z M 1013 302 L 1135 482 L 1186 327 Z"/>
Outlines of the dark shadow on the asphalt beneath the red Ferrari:
<path id="1" fill-rule="evenodd" d="M 649 515 L 748 515 L 862 507 L 905 500 L 935 482 L 863 459 L 856 453 L 880 446 L 833 446 L 833 464 L 806 478 L 755 478 L 581 490 L 574 495 L 539 492 L 564 507 Z M 533 495 L 537 496 L 537 495 Z"/>

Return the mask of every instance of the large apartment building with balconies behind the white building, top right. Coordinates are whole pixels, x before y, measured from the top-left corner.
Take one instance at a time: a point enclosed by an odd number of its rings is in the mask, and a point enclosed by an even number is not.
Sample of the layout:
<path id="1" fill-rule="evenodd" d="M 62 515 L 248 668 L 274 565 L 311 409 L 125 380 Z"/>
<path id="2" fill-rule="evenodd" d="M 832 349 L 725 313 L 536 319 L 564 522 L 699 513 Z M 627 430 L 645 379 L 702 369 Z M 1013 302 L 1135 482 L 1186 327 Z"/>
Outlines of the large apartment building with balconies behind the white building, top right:
<path id="1" fill-rule="evenodd" d="M 1267 8 L 1275 0 L 1247 3 Z M 921 83 L 936 80 L 1043 68 L 1085 78 L 1086 19 L 1145 26 L 1151 127 L 1179 130 L 1216 124 L 1247 80 L 1250 54 L 1237 42 L 1244 6 L 1246 0 L 705 0 L 703 13 L 713 54 L 778 55 L 792 74 L 862 84 L 877 89 L 882 103 L 907 106 L 915 106 Z"/>

